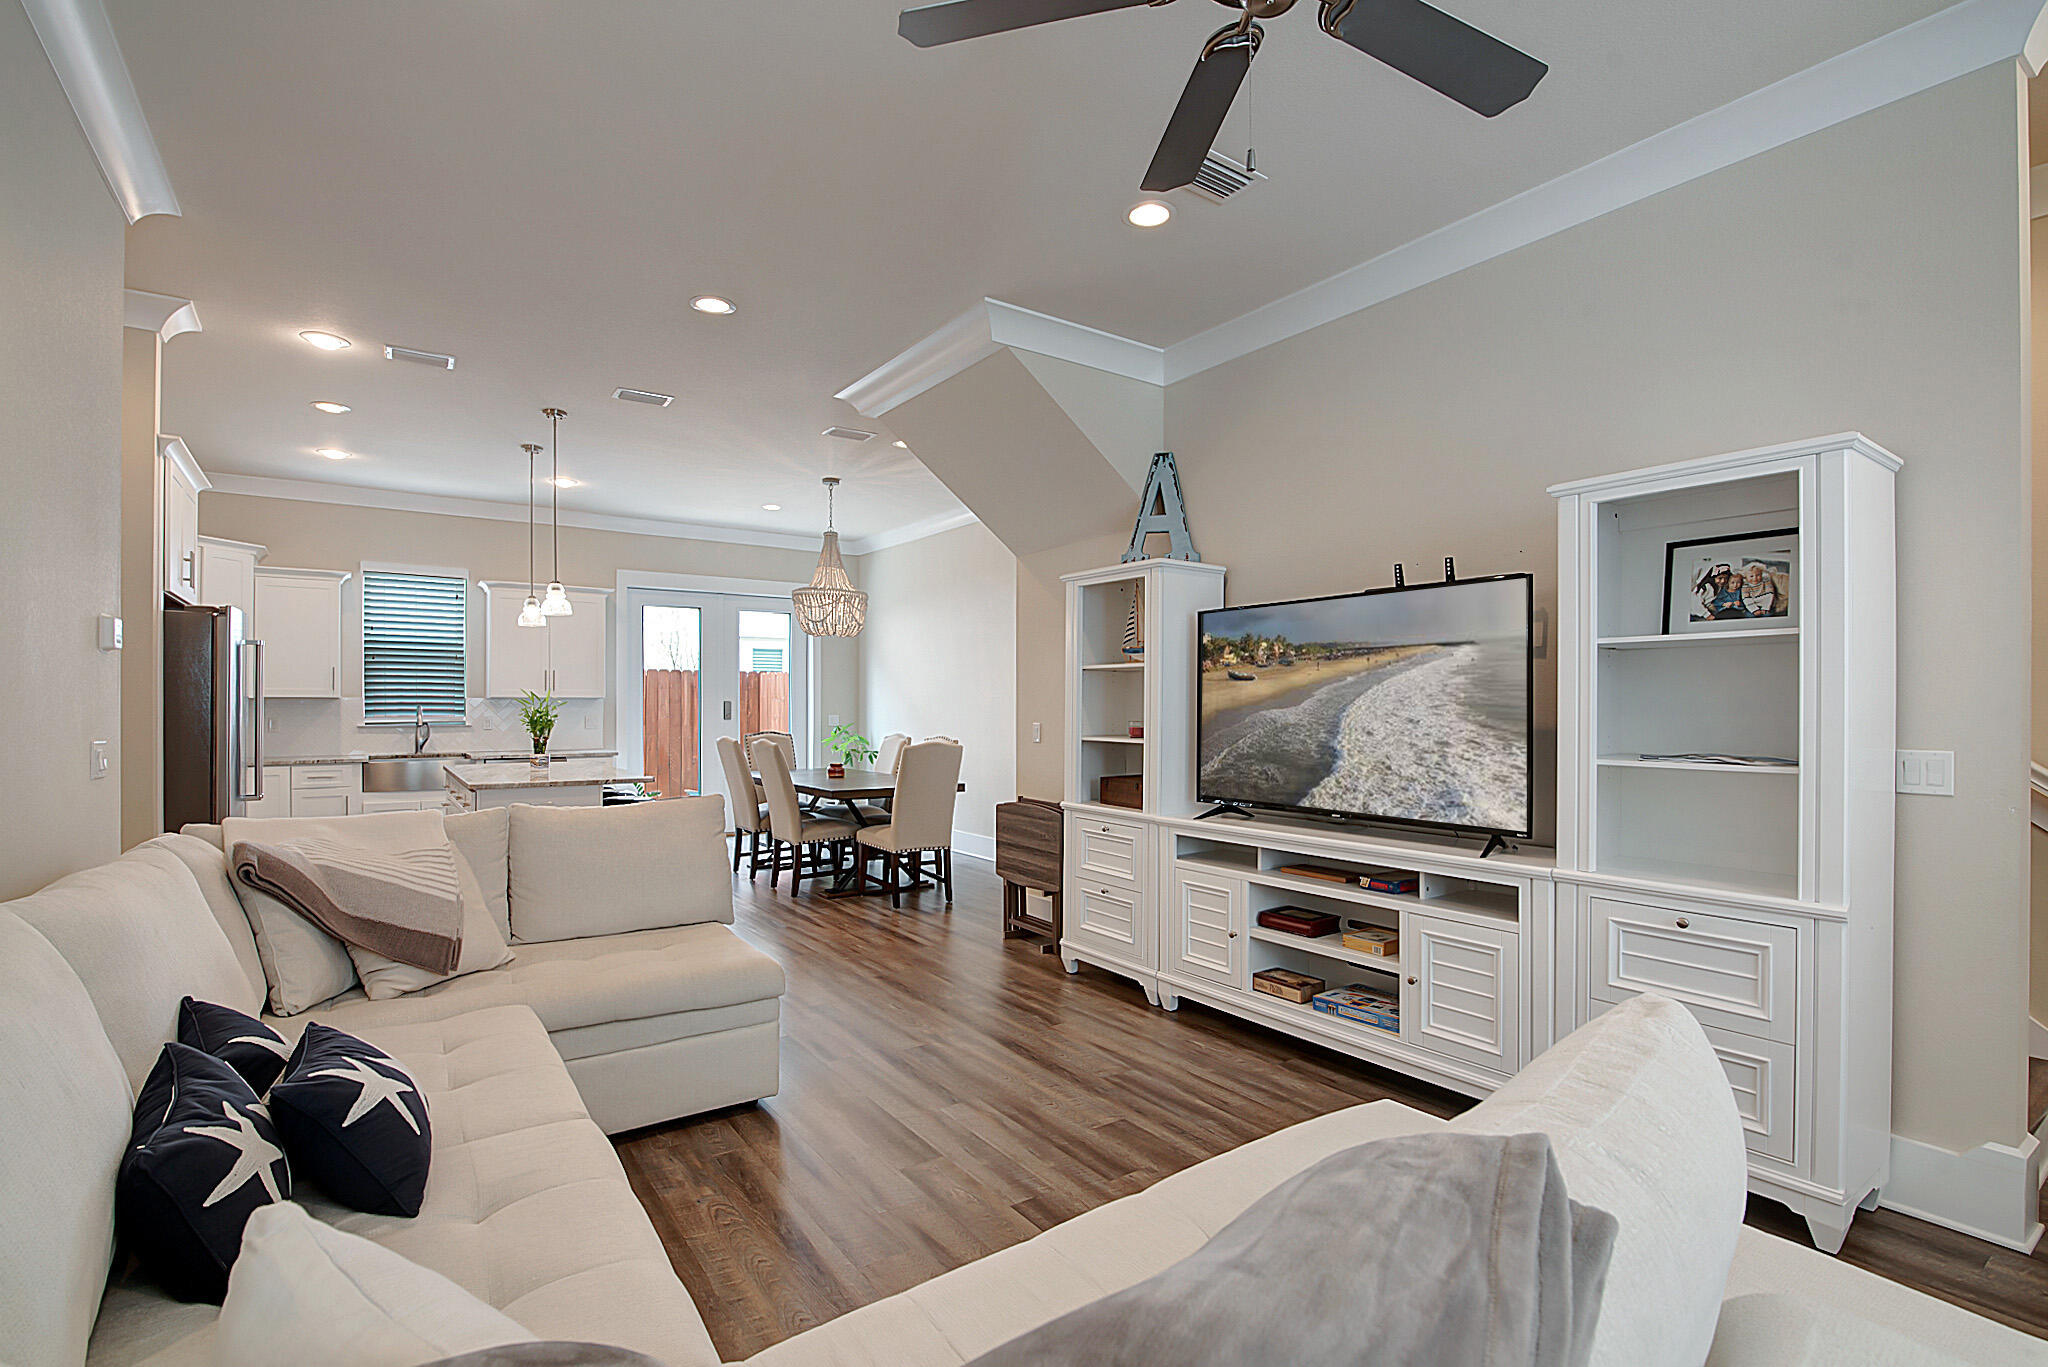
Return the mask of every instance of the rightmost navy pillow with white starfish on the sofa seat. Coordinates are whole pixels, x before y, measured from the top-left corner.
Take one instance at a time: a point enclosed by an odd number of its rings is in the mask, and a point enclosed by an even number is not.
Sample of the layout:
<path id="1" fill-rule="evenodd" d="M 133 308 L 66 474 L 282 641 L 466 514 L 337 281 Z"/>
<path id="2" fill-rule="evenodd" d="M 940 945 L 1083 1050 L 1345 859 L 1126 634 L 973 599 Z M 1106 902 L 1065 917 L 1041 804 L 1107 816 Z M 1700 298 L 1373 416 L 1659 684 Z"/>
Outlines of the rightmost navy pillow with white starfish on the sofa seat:
<path id="1" fill-rule="evenodd" d="M 426 1096 L 383 1049 L 307 1025 L 270 1115 L 301 1178 L 358 1211 L 420 1213 L 434 1131 Z"/>

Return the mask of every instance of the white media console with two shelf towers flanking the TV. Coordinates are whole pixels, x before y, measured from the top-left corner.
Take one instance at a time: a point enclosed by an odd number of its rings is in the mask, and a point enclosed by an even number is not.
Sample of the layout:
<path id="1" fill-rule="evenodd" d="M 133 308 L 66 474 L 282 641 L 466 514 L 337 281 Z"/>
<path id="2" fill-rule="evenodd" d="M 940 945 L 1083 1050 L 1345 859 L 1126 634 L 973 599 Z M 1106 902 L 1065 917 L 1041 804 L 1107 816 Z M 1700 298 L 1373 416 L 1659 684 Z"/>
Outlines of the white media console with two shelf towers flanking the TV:
<path id="1" fill-rule="evenodd" d="M 1847 434 L 1552 490 L 1554 853 L 1196 820 L 1196 613 L 1223 607 L 1223 570 L 1147 560 L 1067 576 L 1063 965 L 1470 1096 L 1608 1006 L 1661 992 L 1722 1060 L 1751 1189 L 1837 1250 L 1890 1154 L 1896 467 Z M 1673 543 L 1784 529 L 1798 533 L 1788 619 L 1667 629 Z M 1133 590 L 1145 654 L 1126 658 Z M 1696 752 L 1788 762 L 1645 758 Z M 1143 805 L 1100 803 L 1108 775 L 1139 775 Z M 1294 863 L 1393 867 L 1419 885 L 1384 896 L 1282 871 Z M 1257 924 L 1280 906 L 1393 928 L 1399 953 Z M 1253 992 L 1266 967 L 1397 992 L 1399 1031 Z"/>

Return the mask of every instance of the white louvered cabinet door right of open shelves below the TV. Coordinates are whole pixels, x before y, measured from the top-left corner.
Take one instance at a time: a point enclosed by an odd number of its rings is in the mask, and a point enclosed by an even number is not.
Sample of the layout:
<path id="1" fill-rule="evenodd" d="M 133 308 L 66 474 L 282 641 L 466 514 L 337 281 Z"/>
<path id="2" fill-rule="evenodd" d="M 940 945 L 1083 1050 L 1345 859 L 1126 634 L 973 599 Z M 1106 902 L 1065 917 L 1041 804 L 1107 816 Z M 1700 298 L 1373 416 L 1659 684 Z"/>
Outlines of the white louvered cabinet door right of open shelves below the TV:
<path id="1" fill-rule="evenodd" d="M 1522 1068 L 1513 930 L 1407 914 L 1401 926 L 1401 1039 L 1462 1064 Z"/>

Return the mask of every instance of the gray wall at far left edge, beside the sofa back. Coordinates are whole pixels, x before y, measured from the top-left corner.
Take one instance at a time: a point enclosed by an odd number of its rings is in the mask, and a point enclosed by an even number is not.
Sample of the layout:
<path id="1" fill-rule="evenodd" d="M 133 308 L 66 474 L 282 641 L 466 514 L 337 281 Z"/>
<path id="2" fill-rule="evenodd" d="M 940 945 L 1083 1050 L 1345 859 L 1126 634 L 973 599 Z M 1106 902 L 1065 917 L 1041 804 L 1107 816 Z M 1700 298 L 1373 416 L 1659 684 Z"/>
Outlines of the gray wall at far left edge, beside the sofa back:
<path id="1" fill-rule="evenodd" d="M 0 6 L 0 898 L 121 851 L 123 219 L 18 4 Z M 115 744 L 119 769 L 119 746 Z"/>

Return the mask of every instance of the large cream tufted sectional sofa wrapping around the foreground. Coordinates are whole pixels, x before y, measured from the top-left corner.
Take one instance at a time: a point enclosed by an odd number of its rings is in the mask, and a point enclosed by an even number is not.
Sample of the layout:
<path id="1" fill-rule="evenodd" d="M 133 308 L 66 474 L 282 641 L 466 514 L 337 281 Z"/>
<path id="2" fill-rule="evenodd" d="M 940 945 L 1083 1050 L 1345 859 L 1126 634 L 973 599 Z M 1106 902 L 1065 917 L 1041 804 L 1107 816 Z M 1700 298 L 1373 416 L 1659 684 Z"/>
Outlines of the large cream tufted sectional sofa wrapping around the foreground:
<path id="1" fill-rule="evenodd" d="M 217 861 L 205 840 L 164 838 L 0 906 L 8 1103 L 0 1109 L 0 1361 L 172 1367 L 211 1359 L 215 1308 L 168 1301 L 119 1269 L 109 1281 L 109 1267 L 113 1176 L 133 1088 L 172 1035 L 178 998 L 244 1010 L 262 1002 L 262 980 L 248 971 L 254 949 L 236 935 L 240 912 Z M 721 853 L 717 885 L 729 898 L 725 879 Z M 416 1219 L 344 1211 L 311 1191 L 303 1203 L 457 1281 L 535 1334 L 612 1342 L 678 1367 L 715 1365 L 702 1318 L 592 1121 L 592 1092 L 616 1107 L 612 1115 L 676 1115 L 696 1099 L 760 1082 L 743 1045 L 748 1031 L 774 1029 L 772 1017 L 733 1023 L 717 1014 L 733 1002 L 717 1004 L 721 992 L 711 988 L 659 996 L 633 984 L 655 961 L 684 974 L 692 949 L 709 959 L 737 955 L 739 963 L 717 967 L 719 982 L 780 990 L 780 974 L 768 976 L 737 951 L 713 951 L 725 939 L 737 943 L 719 920 L 676 930 L 618 935 L 610 947 L 604 939 L 514 943 L 520 959 L 475 982 L 311 1012 L 406 1064 L 434 1117 L 434 1168 Z M 633 945 L 645 945 L 645 955 Z M 612 955 L 627 957 L 608 963 Z M 618 984 L 604 982 L 612 974 Z M 596 980 L 588 998 L 571 990 L 582 976 Z M 512 982 L 526 982 L 535 1002 L 504 1002 L 498 994 Z M 600 1021 L 596 1000 L 614 1014 L 651 1014 Z M 657 1025 L 633 1033 L 631 1021 Z M 721 1058 L 725 1035 L 741 1047 Z M 569 1049 L 575 1058 L 565 1064 Z M 709 1080 L 694 1076 L 692 1049 L 707 1051 Z M 641 1105 L 639 1090 L 670 1101 Z M 1251 1201 L 1341 1148 L 1444 1125 L 1391 1101 L 1292 1125 L 752 1361 L 956 1367 L 1186 1256 Z M 1450 1127 L 1550 1133 L 1573 1195 L 1618 1215 L 1622 1236 L 1595 1347 L 1602 1367 L 2048 1363 L 2048 1344 L 1741 1228 L 1743 1144 L 1733 1103 L 1704 1035 L 1669 1002 L 1640 998 L 1604 1014 Z"/>

